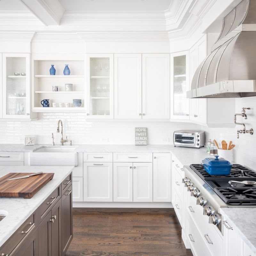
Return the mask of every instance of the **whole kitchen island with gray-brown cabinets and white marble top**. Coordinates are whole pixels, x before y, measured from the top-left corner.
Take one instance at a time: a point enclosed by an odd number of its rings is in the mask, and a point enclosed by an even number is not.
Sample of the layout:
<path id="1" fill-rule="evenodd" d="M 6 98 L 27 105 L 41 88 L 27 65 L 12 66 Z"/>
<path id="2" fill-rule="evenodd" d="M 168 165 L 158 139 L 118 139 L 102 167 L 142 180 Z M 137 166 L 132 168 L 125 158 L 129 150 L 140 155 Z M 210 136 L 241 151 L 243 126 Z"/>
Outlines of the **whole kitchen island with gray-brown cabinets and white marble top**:
<path id="1" fill-rule="evenodd" d="M 30 247 L 32 249 L 27 248 L 29 253 L 24 255 L 44 255 L 44 250 L 59 251 L 58 255 L 65 255 L 73 237 L 72 169 L 72 166 L 0 166 L 0 177 L 10 172 L 54 173 L 53 179 L 30 199 L 0 198 L 0 214 L 1 211 L 8 212 L 0 221 L 0 255 L 10 255 L 12 252 L 11 255 L 21 256 L 22 246 L 29 246 L 29 242 L 33 242 Z M 61 214 L 62 212 L 64 214 Z M 52 236 L 43 237 L 49 224 L 52 224 L 49 229 Z M 53 226 L 53 224 L 58 225 Z M 32 235 L 30 239 L 29 236 Z M 57 241 L 54 243 L 49 241 L 56 238 L 58 238 L 57 247 L 55 246 Z"/>

